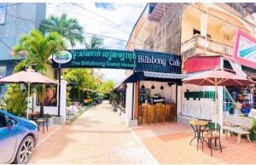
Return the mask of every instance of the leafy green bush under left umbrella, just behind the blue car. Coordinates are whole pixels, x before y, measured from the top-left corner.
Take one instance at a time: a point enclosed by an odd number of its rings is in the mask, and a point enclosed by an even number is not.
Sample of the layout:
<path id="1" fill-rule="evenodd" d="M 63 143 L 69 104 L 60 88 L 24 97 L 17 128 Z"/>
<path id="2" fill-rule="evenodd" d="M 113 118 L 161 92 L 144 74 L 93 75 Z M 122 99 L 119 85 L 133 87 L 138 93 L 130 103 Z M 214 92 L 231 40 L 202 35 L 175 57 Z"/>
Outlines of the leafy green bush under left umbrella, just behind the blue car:
<path id="1" fill-rule="evenodd" d="M 20 116 L 26 110 L 26 97 L 26 88 L 20 88 L 20 84 L 9 84 L 1 100 L 1 109 Z"/>

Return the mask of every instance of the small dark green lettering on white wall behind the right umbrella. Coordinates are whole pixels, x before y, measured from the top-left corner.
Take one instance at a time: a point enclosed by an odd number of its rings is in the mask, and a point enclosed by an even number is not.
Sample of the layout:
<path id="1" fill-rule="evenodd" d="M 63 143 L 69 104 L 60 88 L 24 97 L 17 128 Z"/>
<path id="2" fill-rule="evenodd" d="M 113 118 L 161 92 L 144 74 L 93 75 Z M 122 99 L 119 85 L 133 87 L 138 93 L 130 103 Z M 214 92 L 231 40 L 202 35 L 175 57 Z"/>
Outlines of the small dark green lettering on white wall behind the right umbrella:
<path id="1" fill-rule="evenodd" d="M 212 99 L 215 100 L 215 92 L 214 91 L 196 91 L 196 92 L 190 92 L 187 90 L 187 92 L 184 92 L 184 98 L 189 100 L 190 98 L 193 98 L 193 100 L 201 100 L 201 99 Z"/>

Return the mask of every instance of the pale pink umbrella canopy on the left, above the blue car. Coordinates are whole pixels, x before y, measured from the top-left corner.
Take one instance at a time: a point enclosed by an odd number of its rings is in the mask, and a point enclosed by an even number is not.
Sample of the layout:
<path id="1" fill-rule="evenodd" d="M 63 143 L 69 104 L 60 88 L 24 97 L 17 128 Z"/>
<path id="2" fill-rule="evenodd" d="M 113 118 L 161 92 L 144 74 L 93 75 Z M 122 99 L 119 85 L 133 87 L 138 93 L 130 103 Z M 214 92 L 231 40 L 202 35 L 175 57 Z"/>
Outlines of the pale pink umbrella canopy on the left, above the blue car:
<path id="1" fill-rule="evenodd" d="M 27 69 L 26 71 L 20 71 L 9 77 L 4 77 L 0 79 L 0 83 L 52 83 L 55 84 L 55 80 L 45 77 L 44 75 L 35 72 L 32 69 Z"/>

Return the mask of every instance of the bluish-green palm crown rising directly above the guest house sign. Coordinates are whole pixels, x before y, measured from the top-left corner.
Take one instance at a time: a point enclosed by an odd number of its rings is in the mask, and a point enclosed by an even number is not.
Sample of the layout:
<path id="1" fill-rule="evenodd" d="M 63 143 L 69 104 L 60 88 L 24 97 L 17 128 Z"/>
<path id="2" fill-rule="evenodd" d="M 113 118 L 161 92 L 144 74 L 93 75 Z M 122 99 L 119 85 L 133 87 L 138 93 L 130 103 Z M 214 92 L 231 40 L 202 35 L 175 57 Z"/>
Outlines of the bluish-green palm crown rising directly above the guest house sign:
<path id="1" fill-rule="evenodd" d="M 84 43 L 83 27 L 79 25 L 77 19 L 67 19 L 67 14 L 61 14 L 61 17 L 50 15 L 41 22 L 39 30 L 42 32 L 55 31 L 67 39 L 74 47 L 77 42 Z"/>

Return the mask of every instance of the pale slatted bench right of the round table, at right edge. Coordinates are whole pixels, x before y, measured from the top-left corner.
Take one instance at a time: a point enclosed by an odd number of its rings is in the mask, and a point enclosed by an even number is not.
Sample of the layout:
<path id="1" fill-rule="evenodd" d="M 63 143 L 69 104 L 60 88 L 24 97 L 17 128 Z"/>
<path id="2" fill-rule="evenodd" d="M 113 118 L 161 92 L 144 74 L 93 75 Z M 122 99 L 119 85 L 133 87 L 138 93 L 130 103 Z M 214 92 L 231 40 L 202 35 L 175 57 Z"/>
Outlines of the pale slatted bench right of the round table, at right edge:
<path id="1" fill-rule="evenodd" d="M 253 120 L 247 117 L 236 117 L 236 116 L 230 116 L 230 115 L 224 115 L 224 122 L 230 123 L 231 125 L 224 125 L 223 129 L 226 134 L 226 138 L 228 136 L 228 132 L 230 132 L 230 135 L 232 133 L 237 134 L 237 143 L 239 144 L 241 142 L 241 135 L 246 135 L 248 142 L 251 142 L 249 134 L 250 132 L 242 129 L 242 128 L 252 128 Z M 241 128 L 242 127 L 242 128 Z"/>

